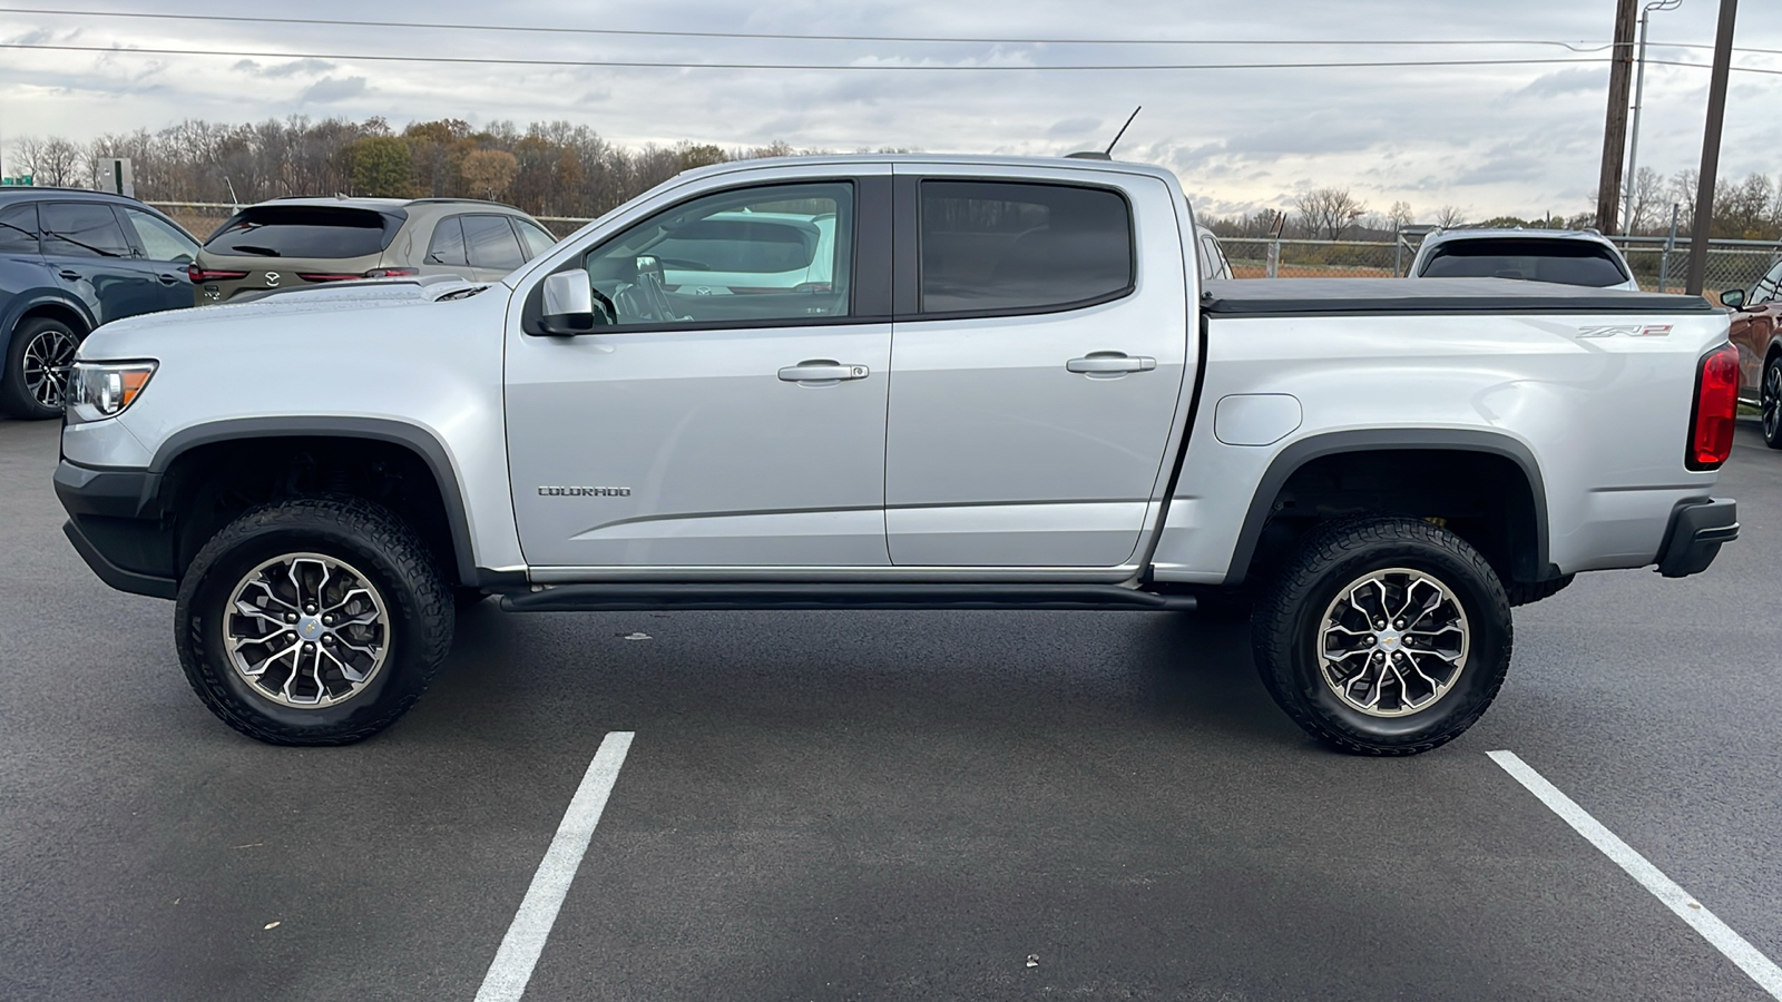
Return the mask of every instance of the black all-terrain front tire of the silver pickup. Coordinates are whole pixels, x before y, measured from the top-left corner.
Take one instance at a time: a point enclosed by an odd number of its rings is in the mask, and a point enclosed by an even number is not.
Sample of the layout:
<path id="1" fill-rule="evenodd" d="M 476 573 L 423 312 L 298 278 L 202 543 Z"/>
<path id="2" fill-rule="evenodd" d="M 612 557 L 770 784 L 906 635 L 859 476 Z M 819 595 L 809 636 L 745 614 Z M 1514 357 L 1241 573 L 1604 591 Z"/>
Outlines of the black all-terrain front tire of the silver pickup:
<path id="1" fill-rule="evenodd" d="M 298 554 L 308 574 L 323 560 L 339 562 L 335 572 L 356 572 L 353 579 L 381 603 L 380 667 L 358 692 L 326 706 L 280 702 L 278 694 L 267 694 L 237 669 L 225 638 L 225 629 L 242 629 L 232 626 L 241 619 L 233 615 L 239 606 L 230 604 L 237 588 L 267 562 Z M 296 563 L 287 576 L 301 576 Z M 282 617 L 287 606 L 266 608 Z M 192 558 L 173 615 L 180 665 L 198 699 L 230 727 L 274 745 L 346 745 L 394 724 L 433 681 L 451 649 L 454 619 L 451 588 L 421 537 L 387 508 L 344 496 L 299 497 L 244 512 Z M 271 669 L 274 676 L 282 665 Z M 312 688 L 319 685 L 317 674 Z"/>

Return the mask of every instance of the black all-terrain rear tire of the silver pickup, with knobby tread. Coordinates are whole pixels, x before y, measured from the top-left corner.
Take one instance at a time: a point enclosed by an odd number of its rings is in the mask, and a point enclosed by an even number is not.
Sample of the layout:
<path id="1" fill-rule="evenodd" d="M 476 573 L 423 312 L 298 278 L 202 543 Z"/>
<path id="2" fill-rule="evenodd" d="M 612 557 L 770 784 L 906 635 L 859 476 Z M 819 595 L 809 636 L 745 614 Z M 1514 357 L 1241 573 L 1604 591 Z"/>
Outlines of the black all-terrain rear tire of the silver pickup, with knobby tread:
<path id="1" fill-rule="evenodd" d="M 1336 683 L 1326 681 L 1320 653 L 1324 617 L 1326 610 L 1347 608 L 1336 604 L 1338 595 L 1353 595 L 1353 587 L 1370 574 L 1401 569 L 1447 588 L 1451 604 L 1458 603 L 1465 615 L 1467 647 L 1449 688 L 1424 708 L 1413 708 L 1415 701 L 1401 701 L 1399 706 L 1383 701 L 1376 711 L 1399 715 L 1376 715 L 1358 710 L 1338 694 Z M 1392 579 L 1410 581 L 1404 574 Z M 1386 588 L 1381 588 L 1383 603 L 1385 595 Z M 1411 642 L 1429 645 L 1413 638 L 1399 647 L 1397 631 L 1367 642 L 1386 651 L 1388 640 L 1406 656 L 1422 653 Z M 1333 522 L 1308 535 L 1258 599 L 1251 642 L 1263 686 L 1306 733 L 1351 754 L 1402 756 L 1454 740 L 1484 713 L 1504 685 L 1513 628 L 1497 574 L 1458 535 L 1417 519 L 1361 519 Z M 1443 644 L 1452 644 L 1452 635 Z M 1374 690 L 1376 699 L 1381 699 L 1379 688 Z M 1385 688 L 1392 692 L 1390 685 Z M 1399 692 L 1408 688 L 1401 685 Z"/>

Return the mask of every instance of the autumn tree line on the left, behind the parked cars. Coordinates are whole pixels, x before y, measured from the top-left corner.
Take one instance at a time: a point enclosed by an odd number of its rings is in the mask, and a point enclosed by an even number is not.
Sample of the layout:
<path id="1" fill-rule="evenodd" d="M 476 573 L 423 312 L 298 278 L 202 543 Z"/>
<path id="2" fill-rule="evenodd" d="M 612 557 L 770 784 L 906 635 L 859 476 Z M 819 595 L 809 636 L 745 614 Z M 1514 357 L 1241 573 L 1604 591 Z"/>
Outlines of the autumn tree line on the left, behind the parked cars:
<path id="1" fill-rule="evenodd" d="M 143 201 L 246 205 L 287 194 L 490 198 L 535 216 L 599 216 L 670 177 L 747 157 L 816 153 L 786 143 L 743 150 L 681 143 L 624 148 L 586 125 L 511 121 L 472 128 L 462 119 L 396 130 L 383 118 L 292 116 L 246 125 L 182 121 L 91 143 L 25 137 L 9 175 L 39 185 L 98 187 L 100 160 L 130 157 Z"/>

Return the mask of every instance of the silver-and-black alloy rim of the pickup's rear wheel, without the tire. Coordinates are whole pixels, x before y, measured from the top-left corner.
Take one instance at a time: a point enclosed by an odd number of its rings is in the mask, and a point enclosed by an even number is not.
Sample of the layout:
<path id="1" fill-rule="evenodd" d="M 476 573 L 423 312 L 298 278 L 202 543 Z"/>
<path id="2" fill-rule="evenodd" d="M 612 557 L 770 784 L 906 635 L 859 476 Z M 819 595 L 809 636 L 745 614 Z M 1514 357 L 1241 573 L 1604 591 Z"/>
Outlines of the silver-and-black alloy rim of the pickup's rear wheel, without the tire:
<path id="1" fill-rule="evenodd" d="M 1404 717 L 1447 695 L 1467 667 L 1470 628 L 1452 588 L 1408 567 L 1372 571 L 1331 599 L 1319 676 L 1370 717 Z"/>

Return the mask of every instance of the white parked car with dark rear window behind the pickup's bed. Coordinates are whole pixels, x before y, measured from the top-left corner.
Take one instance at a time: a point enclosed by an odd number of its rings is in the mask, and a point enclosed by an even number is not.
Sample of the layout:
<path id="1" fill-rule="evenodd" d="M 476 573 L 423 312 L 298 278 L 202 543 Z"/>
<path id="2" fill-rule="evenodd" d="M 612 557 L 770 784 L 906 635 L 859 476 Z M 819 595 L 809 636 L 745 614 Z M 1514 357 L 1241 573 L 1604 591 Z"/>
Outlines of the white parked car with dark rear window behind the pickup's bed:
<path id="1" fill-rule="evenodd" d="M 1590 230 L 1436 230 L 1417 248 L 1410 275 L 1639 291 L 1622 251 Z"/>

